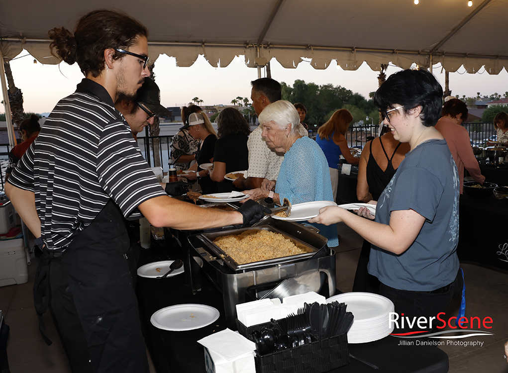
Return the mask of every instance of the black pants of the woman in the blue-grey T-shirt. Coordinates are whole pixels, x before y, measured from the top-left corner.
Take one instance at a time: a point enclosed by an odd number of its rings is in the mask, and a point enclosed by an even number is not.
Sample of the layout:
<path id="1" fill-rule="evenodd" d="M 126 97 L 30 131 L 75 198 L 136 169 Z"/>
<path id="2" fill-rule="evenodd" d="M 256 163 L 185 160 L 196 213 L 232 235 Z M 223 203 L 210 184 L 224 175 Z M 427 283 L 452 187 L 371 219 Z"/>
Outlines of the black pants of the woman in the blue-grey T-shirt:
<path id="1" fill-rule="evenodd" d="M 400 322 L 402 314 L 404 314 L 404 320 L 407 320 L 406 317 L 409 320 L 413 320 L 414 317 L 418 319 L 420 316 L 426 317 L 427 320 L 431 316 L 436 317 L 438 313 L 446 312 L 452 298 L 462 290 L 462 285 L 463 280 L 459 269 L 457 277 L 451 284 L 433 292 L 399 290 L 381 283 L 379 294 L 390 299 L 394 303 L 395 312 L 399 314 L 399 328 L 396 328 L 394 332 L 404 332 L 422 329 L 416 323 L 410 327 L 407 322 L 402 327 Z M 436 325 L 437 320 L 434 320 L 432 326 L 435 328 Z M 427 329 L 427 331 L 430 330 L 430 328 Z"/>

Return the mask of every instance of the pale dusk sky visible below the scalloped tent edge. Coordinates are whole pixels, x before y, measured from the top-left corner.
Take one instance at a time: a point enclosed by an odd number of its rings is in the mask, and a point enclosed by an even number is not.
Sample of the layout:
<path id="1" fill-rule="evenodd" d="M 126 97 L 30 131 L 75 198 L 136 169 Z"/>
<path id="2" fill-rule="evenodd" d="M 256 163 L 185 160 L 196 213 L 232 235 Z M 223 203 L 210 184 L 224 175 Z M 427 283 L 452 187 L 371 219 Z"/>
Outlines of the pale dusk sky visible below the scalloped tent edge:
<path id="1" fill-rule="evenodd" d="M 23 51 L 18 56 L 21 58 L 11 61 L 14 81 L 23 92 L 24 110 L 50 112 L 60 98 L 74 92 L 83 75 L 77 64 L 43 65 L 34 63 L 34 57 L 27 54 Z M 387 75 L 399 70 L 390 66 Z M 377 89 L 378 72 L 366 63 L 357 71 L 344 71 L 335 61 L 326 70 L 315 70 L 308 61 L 301 62 L 296 69 L 284 69 L 272 59 L 271 73 L 273 79 L 290 86 L 301 79 L 318 85 L 340 85 L 365 97 Z M 440 65 L 434 65 L 433 73 L 444 88 Z M 231 105 L 237 96 L 250 98 L 250 81 L 258 78 L 257 69 L 246 67 L 243 56 L 236 57 L 227 67 L 212 67 L 203 56 L 190 67 L 177 67 L 174 58 L 161 55 L 155 62 L 154 74 L 161 88 L 161 104 L 167 107 L 186 105 L 194 97 L 202 99 L 202 105 Z M 482 69 L 480 73 L 467 74 L 461 67 L 457 73 L 450 73 L 450 89 L 460 97 L 476 96 L 477 92 L 482 95 L 497 92 L 503 96 L 508 91 L 508 73 L 503 70 L 499 75 L 489 75 Z M 3 105 L 0 113 L 4 113 Z"/>

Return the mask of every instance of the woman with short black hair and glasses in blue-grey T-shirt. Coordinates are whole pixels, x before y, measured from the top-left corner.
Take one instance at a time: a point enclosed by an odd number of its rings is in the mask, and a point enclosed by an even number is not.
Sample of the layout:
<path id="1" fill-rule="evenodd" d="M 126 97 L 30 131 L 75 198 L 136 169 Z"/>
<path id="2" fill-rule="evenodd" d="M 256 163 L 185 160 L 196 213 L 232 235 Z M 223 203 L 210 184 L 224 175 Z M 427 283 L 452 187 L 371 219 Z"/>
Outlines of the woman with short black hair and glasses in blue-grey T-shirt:
<path id="1" fill-rule="evenodd" d="M 409 143 L 410 151 L 379 197 L 375 221 L 362 218 L 374 219 L 367 209 L 355 215 L 339 207 L 325 207 L 310 219 L 344 222 L 372 243 L 368 271 L 381 282 L 379 294 L 408 320 L 435 318 L 462 288 L 457 167 L 434 128 L 441 97 L 441 86 L 427 71 L 390 76 L 374 94 L 374 104 L 395 140 Z"/>

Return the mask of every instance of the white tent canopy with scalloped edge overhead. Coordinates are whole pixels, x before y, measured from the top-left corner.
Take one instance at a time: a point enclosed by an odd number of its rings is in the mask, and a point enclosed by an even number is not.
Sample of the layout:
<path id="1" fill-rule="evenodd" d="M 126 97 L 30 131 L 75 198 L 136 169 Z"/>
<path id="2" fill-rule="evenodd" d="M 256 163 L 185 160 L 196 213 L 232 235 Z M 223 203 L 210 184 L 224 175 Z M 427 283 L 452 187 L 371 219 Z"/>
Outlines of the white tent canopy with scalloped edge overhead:
<path id="1" fill-rule="evenodd" d="M 24 0 L 0 3 L 4 57 L 26 49 L 42 63 L 58 63 L 48 48 L 48 30 L 65 26 L 98 8 L 120 8 L 150 32 L 150 57 L 165 53 L 178 66 L 203 54 L 213 66 L 245 55 L 248 66 L 275 57 L 296 67 L 311 58 L 315 69 L 335 59 L 344 70 L 366 61 L 371 69 L 392 62 L 407 68 L 441 62 L 455 72 L 485 66 L 490 74 L 508 67 L 508 0 L 238 0 L 162 1 Z M 261 57 L 256 59 L 256 57 Z"/>

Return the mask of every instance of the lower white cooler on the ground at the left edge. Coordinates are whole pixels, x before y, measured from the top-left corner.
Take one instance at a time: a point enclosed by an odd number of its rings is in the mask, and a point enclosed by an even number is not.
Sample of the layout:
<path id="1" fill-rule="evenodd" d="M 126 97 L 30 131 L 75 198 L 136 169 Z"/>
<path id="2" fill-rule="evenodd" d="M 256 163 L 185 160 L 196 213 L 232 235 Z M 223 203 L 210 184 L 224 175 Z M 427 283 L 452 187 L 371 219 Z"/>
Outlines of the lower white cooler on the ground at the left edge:
<path id="1" fill-rule="evenodd" d="M 0 286 L 28 282 L 23 239 L 0 241 Z"/>

